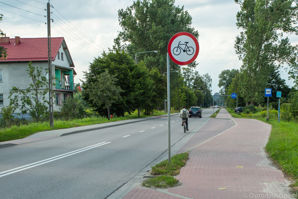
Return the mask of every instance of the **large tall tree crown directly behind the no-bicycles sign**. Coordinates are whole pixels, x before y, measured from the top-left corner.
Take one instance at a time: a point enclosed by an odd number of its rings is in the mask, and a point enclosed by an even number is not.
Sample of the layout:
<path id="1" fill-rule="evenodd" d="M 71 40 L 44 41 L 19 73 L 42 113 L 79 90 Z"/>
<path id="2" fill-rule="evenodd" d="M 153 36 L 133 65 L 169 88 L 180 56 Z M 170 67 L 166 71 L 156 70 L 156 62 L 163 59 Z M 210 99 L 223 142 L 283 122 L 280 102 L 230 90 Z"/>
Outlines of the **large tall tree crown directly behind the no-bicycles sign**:
<path id="1" fill-rule="evenodd" d="M 198 38 L 198 32 L 191 27 L 192 17 L 184 7 L 176 7 L 174 0 L 137 0 L 125 10 L 118 11 L 122 31 L 114 40 L 113 49 L 124 50 L 132 57 L 135 53 L 157 50 L 159 53 L 142 53 L 138 58 L 144 60 L 151 70 L 158 68 L 166 72 L 166 54 L 169 40 L 178 32 L 189 32 Z M 152 56 L 151 56 L 152 55 Z M 173 70 L 179 66 L 171 63 Z M 193 62 L 190 67 L 197 64 Z"/>

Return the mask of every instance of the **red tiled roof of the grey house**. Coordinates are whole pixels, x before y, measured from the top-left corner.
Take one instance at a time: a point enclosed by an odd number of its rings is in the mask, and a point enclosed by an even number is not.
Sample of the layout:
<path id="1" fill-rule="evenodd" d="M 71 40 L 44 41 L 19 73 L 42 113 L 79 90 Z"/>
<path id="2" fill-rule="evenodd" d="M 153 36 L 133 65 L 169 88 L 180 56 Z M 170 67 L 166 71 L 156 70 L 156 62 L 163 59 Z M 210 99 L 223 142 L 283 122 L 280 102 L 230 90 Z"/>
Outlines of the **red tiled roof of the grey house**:
<path id="1" fill-rule="evenodd" d="M 18 61 L 47 61 L 47 38 L 20 38 L 19 45 L 15 45 L 15 39 L 9 39 L 9 44 L 0 44 L 7 48 L 7 59 L 0 62 Z M 52 60 L 64 40 L 63 37 L 51 38 Z"/>

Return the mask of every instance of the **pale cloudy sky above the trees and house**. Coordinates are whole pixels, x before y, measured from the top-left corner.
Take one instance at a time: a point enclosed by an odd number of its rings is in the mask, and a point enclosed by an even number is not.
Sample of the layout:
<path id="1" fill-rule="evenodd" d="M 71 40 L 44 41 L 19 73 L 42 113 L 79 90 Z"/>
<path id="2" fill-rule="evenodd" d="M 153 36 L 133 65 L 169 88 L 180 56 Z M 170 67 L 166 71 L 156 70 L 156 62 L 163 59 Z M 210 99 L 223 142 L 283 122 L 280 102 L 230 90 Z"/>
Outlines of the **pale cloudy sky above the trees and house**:
<path id="1" fill-rule="evenodd" d="M 83 71 L 88 71 L 90 62 L 103 50 L 112 48 L 114 39 L 121 31 L 118 10 L 132 5 L 132 0 L 0 0 L 3 14 L 0 29 L 7 37 L 47 37 L 46 3 L 50 2 L 51 37 L 64 37 L 75 64 L 75 83 L 84 80 Z M 7 5 L 8 4 L 8 5 Z M 192 16 L 192 26 L 199 32 L 200 52 L 195 68 L 199 74 L 208 73 L 212 79 L 212 94 L 219 92 L 219 74 L 223 70 L 240 69 L 242 62 L 235 53 L 236 14 L 240 10 L 233 0 L 176 0 Z M 12 7 L 13 6 L 13 7 Z M 66 20 L 65 20 L 66 19 Z M 298 36 L 290 36 L 293 45 Z M 152 49 L 154 50 L 154 49 Z M 166 55 L 165 55 L 166 56 Z M 285 70 L 282 79 L 288 86 Z"/>

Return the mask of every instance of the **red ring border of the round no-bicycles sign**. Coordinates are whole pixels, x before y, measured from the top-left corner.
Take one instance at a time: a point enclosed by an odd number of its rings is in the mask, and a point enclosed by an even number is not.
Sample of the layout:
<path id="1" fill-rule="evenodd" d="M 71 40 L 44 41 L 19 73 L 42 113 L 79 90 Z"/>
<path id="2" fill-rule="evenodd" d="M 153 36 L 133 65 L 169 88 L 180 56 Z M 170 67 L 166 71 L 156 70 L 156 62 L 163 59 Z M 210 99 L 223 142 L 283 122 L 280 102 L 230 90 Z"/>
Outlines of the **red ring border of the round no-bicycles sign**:
<path id="1" fill-rule="evenodd" d="M 196 52 L 194 53 L 194 56 L 189 59 L 188 61 L 185 61 L 185 62 L 180 62 L 178 61 L 177 59 L 174 58 L 173 54 L 172 54 L 172 51 L 171 51 L 171 45 L 174 41 L 174 39 L 176 39 L 177 37 L 179 36 L 182 36 L 182 35 L 185 35 L 185 36 L 188 36 L 190 37 L 196 44 Z M 168 44 L 168 53 L 169 53 L 169 57 L 171 58 L 171 60 L 176 63 L 176 64 L 179 64 L 179 65 L 187 65 L 187 64 L 190 64 L 191 62 L 195 61 L 195 59 L 197 58 L 198 54 L 199 54 L 199 42 L 198 40 L 196 39 L 195 36 L 193 36 L 192 34 L 188 33 L 188 32 L 179 32 L 177 34 L 175 34 L 169 41 L 169 44 Z"/>

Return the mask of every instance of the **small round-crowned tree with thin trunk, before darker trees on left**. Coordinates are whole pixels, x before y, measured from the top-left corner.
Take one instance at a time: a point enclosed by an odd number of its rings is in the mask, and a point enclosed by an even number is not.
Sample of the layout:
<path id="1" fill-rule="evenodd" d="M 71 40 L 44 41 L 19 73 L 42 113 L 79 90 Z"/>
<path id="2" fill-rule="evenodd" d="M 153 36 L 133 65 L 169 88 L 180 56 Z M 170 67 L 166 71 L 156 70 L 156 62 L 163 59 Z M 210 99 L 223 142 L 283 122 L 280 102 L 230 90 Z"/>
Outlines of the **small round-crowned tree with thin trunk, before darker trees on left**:
<path id="1" fill-rule="evenodd" d="M 89 90 L 90 99 L 97 105 L 104 104 L 104 108 L 107 109 L 107 118 L 110 120 L 110 107 L 113 103 L 121 99 L 120 86 L 116 86 L 115 83 L 118 79 L 115 76 L 111 76 L 106 70 L 97 77 L 97 81 L 91 83 Z"/>

